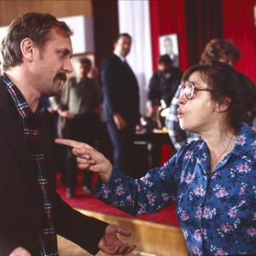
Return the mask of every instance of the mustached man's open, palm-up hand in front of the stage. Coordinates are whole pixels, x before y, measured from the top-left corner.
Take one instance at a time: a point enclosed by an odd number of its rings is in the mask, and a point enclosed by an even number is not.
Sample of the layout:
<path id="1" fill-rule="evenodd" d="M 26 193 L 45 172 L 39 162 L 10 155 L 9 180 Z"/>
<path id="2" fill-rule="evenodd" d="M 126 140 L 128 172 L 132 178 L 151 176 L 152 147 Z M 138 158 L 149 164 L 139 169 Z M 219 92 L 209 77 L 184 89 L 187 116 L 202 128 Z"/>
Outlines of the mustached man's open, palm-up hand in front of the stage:
<path id="1" fill-rule="evenodd" d="M 123 230 L 116 225 L 109 224 L 105 234 L 98 243 L 98 247 L 104 253 L 108 254 L 127 254 L 134 250 L 136 245 L 130 246 L 128 243 L 120 241 L 117 234 L 122 236 L 131 236 L 131 232 Z"/>

